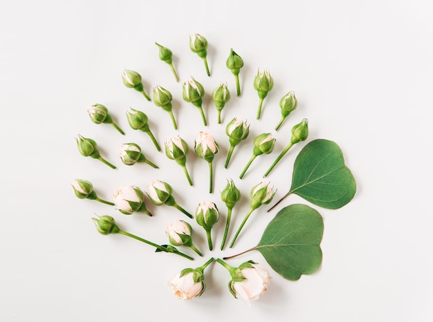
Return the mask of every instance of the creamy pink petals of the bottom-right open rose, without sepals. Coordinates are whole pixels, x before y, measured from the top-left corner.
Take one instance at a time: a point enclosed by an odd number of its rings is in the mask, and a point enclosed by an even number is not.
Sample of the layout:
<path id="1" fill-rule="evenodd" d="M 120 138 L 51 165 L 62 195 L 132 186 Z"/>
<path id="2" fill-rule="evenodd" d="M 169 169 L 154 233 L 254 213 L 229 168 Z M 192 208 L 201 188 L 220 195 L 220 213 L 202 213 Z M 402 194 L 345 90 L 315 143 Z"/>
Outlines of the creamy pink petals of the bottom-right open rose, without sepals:
<path id="1" fill-rule="evenodd" d="M 236 298 L 245 300 L 248 305 L 250 305 L 250 301 L 259 299 L 259 296 L 268 290 L 270 282 L 270 276 L 264 267 L 255 263 L 250 265 L 252 267 L 241 268 L 241 273 L 245 279 L 231 284 Z"/>

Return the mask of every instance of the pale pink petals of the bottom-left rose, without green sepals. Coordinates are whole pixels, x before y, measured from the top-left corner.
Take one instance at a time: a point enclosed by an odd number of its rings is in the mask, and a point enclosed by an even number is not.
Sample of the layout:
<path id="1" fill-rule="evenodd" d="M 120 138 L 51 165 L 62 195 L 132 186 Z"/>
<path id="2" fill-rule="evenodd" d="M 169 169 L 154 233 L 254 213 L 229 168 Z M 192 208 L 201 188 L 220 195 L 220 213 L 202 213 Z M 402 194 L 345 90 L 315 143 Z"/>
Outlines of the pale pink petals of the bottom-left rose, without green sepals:
<path id="1" fill-rule="evenodd" d="M 181 276 L 181 273 L 174 275 L 168 281 L 168 286 L 172 288 L 174 295 L 178 299 L 190 300 L 200 296 L 205 290 L 203 278 L 194 282 L 194 269 L 191 272 Z"/>

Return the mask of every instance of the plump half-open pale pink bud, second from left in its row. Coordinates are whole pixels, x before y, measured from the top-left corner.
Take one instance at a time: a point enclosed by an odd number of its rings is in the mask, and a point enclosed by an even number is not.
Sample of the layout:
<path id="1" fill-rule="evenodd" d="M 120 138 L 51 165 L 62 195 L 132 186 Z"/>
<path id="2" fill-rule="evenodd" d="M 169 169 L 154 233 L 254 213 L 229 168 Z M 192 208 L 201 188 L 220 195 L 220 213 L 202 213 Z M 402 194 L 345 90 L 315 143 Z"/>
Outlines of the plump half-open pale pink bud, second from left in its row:
<path id="1" fill-rule="evenodd" d="M 135 211 L 142 211 L 147 216 L 152 214 L 146 209 L 145 193 L 134 186 L 122 186 L 113 194 L 117 209 L 125 215 L 131 215 Z"/>

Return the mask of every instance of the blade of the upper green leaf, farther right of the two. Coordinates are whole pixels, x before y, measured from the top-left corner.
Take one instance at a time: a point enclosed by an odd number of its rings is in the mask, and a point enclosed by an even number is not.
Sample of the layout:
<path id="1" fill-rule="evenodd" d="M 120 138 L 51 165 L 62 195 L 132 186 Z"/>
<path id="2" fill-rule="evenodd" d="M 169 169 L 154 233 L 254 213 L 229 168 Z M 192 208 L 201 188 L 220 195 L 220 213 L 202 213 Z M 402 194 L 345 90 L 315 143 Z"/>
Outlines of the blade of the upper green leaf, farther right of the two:
<path id="1" fill-rule="evenodd" d="M 338 209 L 356 192 L 356 181 L 344 164 L 340 147 L 329 140 L 313 140 L 297 155 L 290 193 L 314 205 Z"/>

